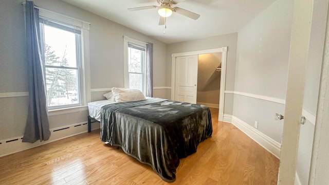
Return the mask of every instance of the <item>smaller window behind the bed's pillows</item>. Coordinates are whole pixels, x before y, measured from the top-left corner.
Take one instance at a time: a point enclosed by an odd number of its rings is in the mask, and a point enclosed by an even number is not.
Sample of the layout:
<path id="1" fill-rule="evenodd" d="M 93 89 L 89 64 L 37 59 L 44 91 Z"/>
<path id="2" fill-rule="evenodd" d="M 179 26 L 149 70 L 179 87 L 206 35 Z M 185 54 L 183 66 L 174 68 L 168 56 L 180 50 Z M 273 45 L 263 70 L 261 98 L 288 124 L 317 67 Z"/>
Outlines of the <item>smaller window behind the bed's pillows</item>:
<path id="1" fill-rule="evenodd" d="M 145 94 L 146 44 L 125 37 L 125 87 L 135 88 Z"/>

